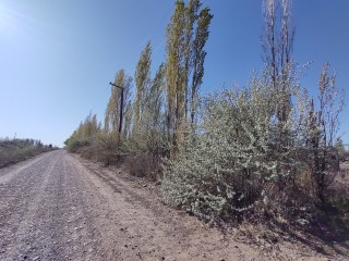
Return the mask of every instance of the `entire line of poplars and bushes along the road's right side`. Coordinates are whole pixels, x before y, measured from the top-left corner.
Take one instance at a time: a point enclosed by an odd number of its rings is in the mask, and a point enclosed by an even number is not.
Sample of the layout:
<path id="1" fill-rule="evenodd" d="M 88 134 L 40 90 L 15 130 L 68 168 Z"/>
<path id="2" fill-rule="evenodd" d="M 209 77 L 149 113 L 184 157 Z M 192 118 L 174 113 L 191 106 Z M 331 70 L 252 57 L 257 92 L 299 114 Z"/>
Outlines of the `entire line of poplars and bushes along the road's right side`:
<path id="1" fill-rule="evenodd" d="M 248 86 L 202 97 L 214 16 L 200 0 L 176 1 L 166 61 L 152 77 L 148 42 L 133 78 L 117 72 L 113 84 L 122 89 L 111 87 L 104 125 L 89 114 L 65 141 L 68 149 L 95 145 L 115 157 L 152 156 L 160 165 L 164 201 L 210 222 L 311 216 L 330 200 L 339 170 L 344 99 L 328 63 L 318 97 L 302 87 L 290 3 L 263 2 L 264 67 Z"/>

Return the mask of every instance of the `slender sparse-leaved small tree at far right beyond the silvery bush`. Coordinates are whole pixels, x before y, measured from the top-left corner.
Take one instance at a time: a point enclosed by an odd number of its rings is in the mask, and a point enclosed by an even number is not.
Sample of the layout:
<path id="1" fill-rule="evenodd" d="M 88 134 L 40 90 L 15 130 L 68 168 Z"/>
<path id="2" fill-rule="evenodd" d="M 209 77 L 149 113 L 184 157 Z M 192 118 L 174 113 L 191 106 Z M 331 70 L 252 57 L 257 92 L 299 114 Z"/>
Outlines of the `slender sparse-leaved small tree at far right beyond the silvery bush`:
<path id="1" fill-rule="evenodd" d="M 336 74 L 328 75 L 329 64 L 323 65 L 318 82 L 318 110 L 311 101 L 310 110 L 310 145 L 313 151 L 312 170 L 316 194 L 324 204 L 329 185 L 330 172 L 339 167 L 338 151 L 334 147 L 339 126 L 339 113 L 344 108 L 344 96 L 336 86 Z"/>

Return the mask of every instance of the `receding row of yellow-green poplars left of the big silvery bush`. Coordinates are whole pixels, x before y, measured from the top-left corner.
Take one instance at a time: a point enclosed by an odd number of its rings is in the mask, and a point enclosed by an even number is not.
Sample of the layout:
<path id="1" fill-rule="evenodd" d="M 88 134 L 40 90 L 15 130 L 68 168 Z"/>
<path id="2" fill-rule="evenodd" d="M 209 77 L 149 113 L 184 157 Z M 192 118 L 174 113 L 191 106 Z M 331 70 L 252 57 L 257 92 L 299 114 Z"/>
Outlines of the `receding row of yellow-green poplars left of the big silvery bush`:
<path id="1" fill-rule="evenodd" d="M 200 0 L 177 1 L 167 26 L 166 62 L 155 76 L 152 78 L 152 44 L 148 42 L 140 55 L 134 77 L 124 70 L 117 72 L 113 85 L 122 89 L 111 87 L 104 125 L 95 115 L 88 115 L 65 145 L 69 147 L 79 140 L 89 142 L 98 136 L 108 148 L 127 144 L 158 156 L 174 151 L 184 129 L 194 125 L 197 117 L 204 48 L 212 18 L 209 8 L 203 7 Z"/>

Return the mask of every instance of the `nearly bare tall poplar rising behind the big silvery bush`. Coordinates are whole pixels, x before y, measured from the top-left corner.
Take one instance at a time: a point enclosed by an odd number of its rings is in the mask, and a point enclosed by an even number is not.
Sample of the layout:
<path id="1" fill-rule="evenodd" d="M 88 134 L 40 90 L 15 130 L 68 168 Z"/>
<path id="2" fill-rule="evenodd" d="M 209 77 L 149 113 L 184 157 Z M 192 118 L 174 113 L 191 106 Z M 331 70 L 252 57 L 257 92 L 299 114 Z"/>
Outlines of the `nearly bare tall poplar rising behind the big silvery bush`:
<path id="1" fill-rule="evenodd" d="M 269 82 L 278 96 L 275 114 L 286 122 L 291 111 L 291 85 L 293 84 L 293 38 L 296 27 L 291 20 L 291 0 L 264 0 L 263 60 Z"/>

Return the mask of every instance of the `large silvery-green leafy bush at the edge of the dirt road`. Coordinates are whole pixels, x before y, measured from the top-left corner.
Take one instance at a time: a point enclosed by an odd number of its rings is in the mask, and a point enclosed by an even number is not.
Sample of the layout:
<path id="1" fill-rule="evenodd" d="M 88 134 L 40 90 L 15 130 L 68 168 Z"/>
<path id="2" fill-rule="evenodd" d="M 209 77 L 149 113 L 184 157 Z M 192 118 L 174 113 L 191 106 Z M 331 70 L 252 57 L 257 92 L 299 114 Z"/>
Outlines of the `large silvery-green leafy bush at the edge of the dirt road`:
<path id="1" fill-rule="evenodd" d="M 270 189 L 281 189 L 297 165 L 284 140 L 292 140 L 292 122 L 273 119 L 273 99 L 258 79 L 243 90 L 209 96 L 196 134 L 165 160 L 165 201 L 208 221 L 267 209 L 275 200 Z"/>

